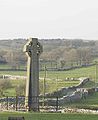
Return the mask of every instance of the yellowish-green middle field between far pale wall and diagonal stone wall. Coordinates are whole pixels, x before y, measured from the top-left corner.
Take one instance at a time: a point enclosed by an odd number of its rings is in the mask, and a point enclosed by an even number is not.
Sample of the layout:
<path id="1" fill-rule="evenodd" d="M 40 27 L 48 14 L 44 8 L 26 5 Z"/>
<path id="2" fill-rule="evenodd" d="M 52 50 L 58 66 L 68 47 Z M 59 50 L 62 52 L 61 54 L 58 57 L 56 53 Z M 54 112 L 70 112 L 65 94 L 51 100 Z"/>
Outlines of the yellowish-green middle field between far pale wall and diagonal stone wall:
<path id="1" fill-rule="evenodd" d="M 2 80 L 3 81 L 3 80 Z M 16 96 L 15 88 L 18 85 L 24 85 L 25 86 L 25 80 L 9 80 L 11 83 L 11 88 L 4 89 L 3 94 L 5 96 Z M 51 93 L 53 91 L 56 91 L 62 87 L 68 87 L 77 85 L 79 81 L 63 81 L 59 80 L 56 82 L 56 80 L 46 80 L 46 93 Z M 40 80 L 40 93 L 43 94 L 43 80 Z"/>

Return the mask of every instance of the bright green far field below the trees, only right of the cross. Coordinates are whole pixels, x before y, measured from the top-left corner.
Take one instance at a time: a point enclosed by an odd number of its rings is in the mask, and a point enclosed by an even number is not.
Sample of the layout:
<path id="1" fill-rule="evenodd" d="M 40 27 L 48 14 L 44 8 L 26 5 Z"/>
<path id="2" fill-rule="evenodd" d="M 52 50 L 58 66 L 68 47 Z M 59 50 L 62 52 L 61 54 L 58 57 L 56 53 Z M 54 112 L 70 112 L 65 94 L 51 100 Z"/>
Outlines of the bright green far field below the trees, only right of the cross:
<path id="1" fill-rule="evenodd" d="M 45 72 L 40 72 L 40 77 L 44 77 Z M 79 78 L 79 77 L 90 77 L 95 79 L 95 66 L 73 69 L 69 71 L 47 71 L 47 78 L 51 79 L 62 79 L 65 78 Z"/>

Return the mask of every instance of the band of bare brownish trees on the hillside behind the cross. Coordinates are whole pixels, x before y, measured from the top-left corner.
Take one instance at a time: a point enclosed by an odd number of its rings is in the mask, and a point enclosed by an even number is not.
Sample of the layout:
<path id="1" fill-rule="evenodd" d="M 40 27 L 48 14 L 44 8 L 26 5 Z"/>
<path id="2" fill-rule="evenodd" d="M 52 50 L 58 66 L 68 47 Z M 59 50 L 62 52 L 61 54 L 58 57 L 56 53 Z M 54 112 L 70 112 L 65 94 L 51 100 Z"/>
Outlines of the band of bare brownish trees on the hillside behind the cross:
<path id="1" fill-rule="evenodd" d="M 98 57 L 97 41 L 81 39 L 41 39 L 39 41 L 44 49 L 40 56 L 40 63 L 49 61 L 52 64 L 54 62 L 55 66 L 63 68 L 65 66 L 87 65 Z M 10 47 L 10 42 L 7 42 L 9 44 L 6 44 L 6 46 L 9 46 L 9 48 L 6 49 L 5 46 L 5 49 L 0 50 L 0 64 L 8 64 L 15 69 L 19 69 L 21 65 L 25 66 L 27 56 L 22 50 L 25 42 L 26 40 L 24 39 L 22 42 L 19 42 L 18 39 L 15 40 L 14 44 L 13 40 L 14 48 Z"/>

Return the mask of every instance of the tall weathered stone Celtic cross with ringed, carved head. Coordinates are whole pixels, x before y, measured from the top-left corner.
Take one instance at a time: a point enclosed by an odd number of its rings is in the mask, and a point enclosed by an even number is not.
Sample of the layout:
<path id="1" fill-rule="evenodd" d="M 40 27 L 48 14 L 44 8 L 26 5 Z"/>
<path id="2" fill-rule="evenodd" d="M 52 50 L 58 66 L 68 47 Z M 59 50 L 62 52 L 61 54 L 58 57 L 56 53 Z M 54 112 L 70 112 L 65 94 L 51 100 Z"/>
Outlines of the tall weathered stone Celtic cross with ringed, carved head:
<path id="1" fill-rule="evenodd" d="M 28 57 L 26 102 L 29 110 L 39 110 L 39 56 L 43 49 L 37 38 L 30 38 L 24 46 Z"/>

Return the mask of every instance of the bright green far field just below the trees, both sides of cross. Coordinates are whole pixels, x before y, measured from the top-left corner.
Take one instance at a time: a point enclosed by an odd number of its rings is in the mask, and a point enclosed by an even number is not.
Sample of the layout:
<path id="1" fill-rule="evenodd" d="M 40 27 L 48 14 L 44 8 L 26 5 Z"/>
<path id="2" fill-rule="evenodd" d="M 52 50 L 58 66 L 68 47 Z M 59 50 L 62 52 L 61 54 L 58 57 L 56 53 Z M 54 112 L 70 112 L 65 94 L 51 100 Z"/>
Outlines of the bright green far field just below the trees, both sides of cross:
<path id="1" fill-rule="evenodd" d="M 0 71 L 0 75 L 4 74 L 26 76 L 26 71 Z M 56 79 L 57 77 L 58 79 L 62 80 L 65 80 L 65 78 L 79 78 L 79 77 L 90 77 L 92 79 L 95 79 L 96 67 L 91 66 L 68 71 L 47 71 L 46 74 L 47 78 L 50 79 Z M 43 78 L 44 76 L 45 72 L 40 71 L 40 77 Z"/>

